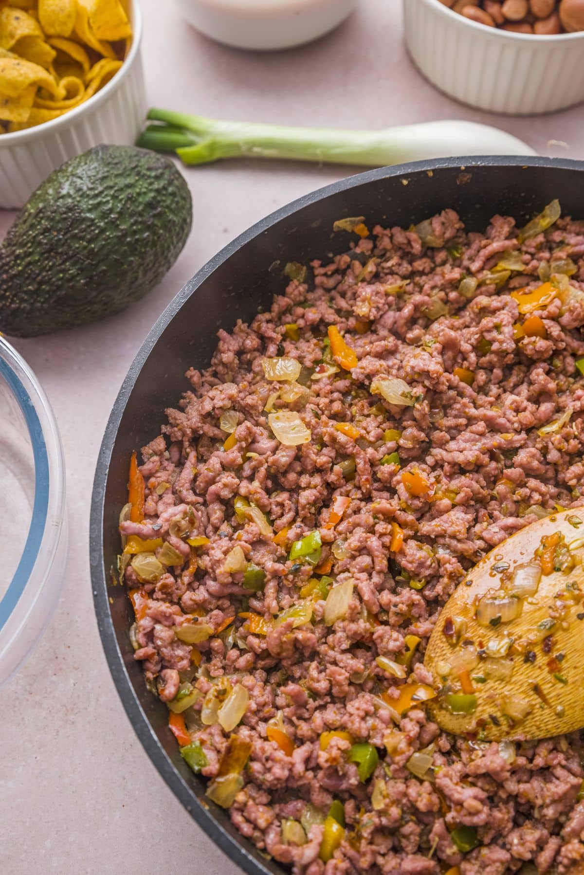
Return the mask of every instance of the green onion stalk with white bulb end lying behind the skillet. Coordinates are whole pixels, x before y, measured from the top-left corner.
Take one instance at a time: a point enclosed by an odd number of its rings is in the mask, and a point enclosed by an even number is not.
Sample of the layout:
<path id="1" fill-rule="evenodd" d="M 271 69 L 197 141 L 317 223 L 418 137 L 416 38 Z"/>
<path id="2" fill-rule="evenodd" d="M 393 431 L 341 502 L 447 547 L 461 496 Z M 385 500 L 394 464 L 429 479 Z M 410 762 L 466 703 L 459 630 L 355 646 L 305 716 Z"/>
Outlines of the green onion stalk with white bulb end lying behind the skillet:
<path id="1" fill-rule="evenodd" d="M 166 109 L 151 109 L 148 119 L 152 124 L 147 125 L 137 145 L 176 152 L 186 165 L 209 164 L 222 158 L 290 158 L 381 167 L 455 155 L 535 154 L 503 130 L 458 120 L 385 130 L 334 130 L 221 122 Z"/>

